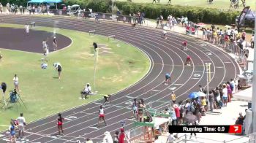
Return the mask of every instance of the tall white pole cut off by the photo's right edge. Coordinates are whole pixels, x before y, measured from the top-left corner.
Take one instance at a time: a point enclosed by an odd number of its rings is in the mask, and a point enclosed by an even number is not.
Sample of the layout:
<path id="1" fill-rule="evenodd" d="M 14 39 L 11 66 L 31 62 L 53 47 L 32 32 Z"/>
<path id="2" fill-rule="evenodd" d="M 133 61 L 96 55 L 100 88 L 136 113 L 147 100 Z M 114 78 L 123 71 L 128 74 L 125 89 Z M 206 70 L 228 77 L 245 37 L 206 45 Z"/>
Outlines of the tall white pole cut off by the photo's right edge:
<path id="1" fill-rule="evenodd" d="M 256 4 L 256 1 L 255 1 Z M 256 19 L 255 19 L 255 32 L 256 32 Z M 256 43 L 256 36 L 254 39 Z M 256 45 L 254 45 L 254 50 Z M 256 133 L 256 50 L 254 51 L 254 60 L 253 60 L 253 77 L 252 77 L 252 134 Z M 255 136 L 251 136 L 252 142 L 256 143 Z"/>

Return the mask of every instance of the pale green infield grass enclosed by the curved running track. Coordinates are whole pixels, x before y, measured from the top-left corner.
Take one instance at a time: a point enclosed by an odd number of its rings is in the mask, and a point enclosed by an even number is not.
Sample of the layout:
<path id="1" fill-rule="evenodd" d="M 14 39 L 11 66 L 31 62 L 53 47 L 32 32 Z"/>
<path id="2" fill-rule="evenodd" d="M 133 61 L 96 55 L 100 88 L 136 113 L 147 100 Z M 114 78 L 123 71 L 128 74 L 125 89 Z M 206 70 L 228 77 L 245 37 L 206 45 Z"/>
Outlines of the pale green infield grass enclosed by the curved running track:
<path id="1" fill-rule="evenodd" d="M 23 28 L 18 25 L 0 26 Z M 53 31 L 53 28 L 45 27 L 36 29 Z M 80 31 L 57 29 L 57 33 L 69 36 L 72 45 L 51 53 L 48 56 L 48 69 L 40 69 L 42 54 L 0 48 L 1 55 L 4 55 L 0 61 L 0 82 L 7 83 L 6 98 L 9 97 L 9 90 L 14 88 L 12 77 L 18 74 L 20 96 L 28 107 L 25 109 L 11 105 L 7 111 L 1 109 L 0 130 L 7 129 L 1 125 L 9 125 L 10 119 L 18 117 L 19 112 L 23 112 L 27 122 L 30 122 L 102 98 L 104 93 L 115 93 L 140 80 L 150 66 L 146 55 L 124 42 L 108 42 L 105 36 L 94 36 L 92 41 L 92 36 Z M 98 94 L 80 100 L 80 90 L 86 82 L 91 83 L 92 90 L 95 90 L 92 42 L 107 45 L 111 53 L 99 53 L 96 80 Z M 61 80 L 54 78 L 57 77 L 53 69 L 53 63 L 56 61 L 63 66 Z"/>

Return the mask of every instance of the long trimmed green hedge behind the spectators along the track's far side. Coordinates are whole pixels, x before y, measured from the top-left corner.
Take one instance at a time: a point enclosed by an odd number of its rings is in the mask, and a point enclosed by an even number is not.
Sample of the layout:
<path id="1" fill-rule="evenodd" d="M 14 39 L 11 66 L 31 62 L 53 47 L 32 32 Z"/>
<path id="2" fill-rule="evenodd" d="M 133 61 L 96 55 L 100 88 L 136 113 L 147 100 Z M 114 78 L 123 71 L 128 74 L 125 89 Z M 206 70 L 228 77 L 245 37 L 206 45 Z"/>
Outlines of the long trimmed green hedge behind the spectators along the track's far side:
<path id="1" fill-rule="evenodd" d="M 66 0 L 66 3 L 69 5 L 79 4 L 81 7 L 93 9 L 94 12 L 111 12 L 112 4 L 111 0 Z M 240 14 L 237 11 L 228 12 L 220 11 L 219 9 L 165 4 L 139 4 L 129 1 L 116 1 L 115 4 L 123 15 L 140 11 L 146 13 L 146 18 L 156 19 L 162 14 L 166 19 L 171 14 L 176 18 L 187 16 L 189 20 L 195 23 L 233 24 L 235 23 L 236 16 Z"/>

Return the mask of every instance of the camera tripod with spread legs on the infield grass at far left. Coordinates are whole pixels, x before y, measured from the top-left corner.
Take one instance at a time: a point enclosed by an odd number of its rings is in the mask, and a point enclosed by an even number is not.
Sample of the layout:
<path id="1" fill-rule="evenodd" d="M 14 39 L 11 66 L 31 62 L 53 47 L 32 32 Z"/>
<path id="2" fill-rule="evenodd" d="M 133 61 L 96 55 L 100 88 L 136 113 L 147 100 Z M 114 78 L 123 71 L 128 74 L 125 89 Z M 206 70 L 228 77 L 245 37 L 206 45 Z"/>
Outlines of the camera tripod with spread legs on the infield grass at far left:
<path id="1" fill-rule="evenodd" d="M 12 96 L 15 96 L 15 97 L 12 97 Z M 7 99 L 7 106 L 4 110 L 6 110 L 10 104 L 15 104 L 15 106 L 17 107 L 18 109 L 18 104 L 20 104 L 20 107 L 23 105 L 26 109 L 26 105 L 24 104 L 22 98 L 20 98 L 20 95 L 18 93 L 16 93 L 15 91 L 11 91 L 10 93 L 10 97 Z"/>

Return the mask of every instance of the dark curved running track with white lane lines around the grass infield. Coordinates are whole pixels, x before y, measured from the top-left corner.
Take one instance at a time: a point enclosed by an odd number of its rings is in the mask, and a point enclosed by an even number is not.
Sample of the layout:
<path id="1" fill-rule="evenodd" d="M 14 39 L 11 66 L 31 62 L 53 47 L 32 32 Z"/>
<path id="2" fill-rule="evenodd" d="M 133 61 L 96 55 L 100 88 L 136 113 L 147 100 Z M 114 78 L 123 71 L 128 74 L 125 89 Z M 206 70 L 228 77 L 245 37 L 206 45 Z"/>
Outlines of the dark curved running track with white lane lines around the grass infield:
<path id="1" fill-rule="evenodd" d="M 132 128 L 132 120 L 128 120 L 132 115 L 131 105 L 127 104 L 127 102 L 132 101 L 132 98 L 144 98 L 146 103 L 155 101 L 152 104 L 154 108 L 162 107 L 164 109 L 167 106 L 166 101 L 170 101 L 170 89 L 175 89 L 176 96 L 178 96 L 176 101 L 186 100 L 189 93 L 198 90 L 198 85 L 206 85 L 206 68 L 203 66 L 205 63 L 211 63 L 210 89 L 222 84 L 222 82 L 229 81 L 231 78 L 235 79 L 236 75 L 239 74 L 238 64 L 227 53 L 205 42 L 181 34 L 170 34 L 169 32 L 167 34 L 168 39 L 162 39 L 159 30 L 143 27 L 134 30 L 126 24 L 95 23 L 91 20 L 62 17 L 39 18 L 0 15 L 0 18 L 1 23 L 24 24 L 35 21 L 37 26 L 67 28 L 85 32 L 95 29 L 97 34 L 116 35 L 117 39 L 138 47 L 148 55 L 151 61 L 151 67 L 145 77 L 135 85 L 114 94 L 113 106 L 105 108 L 107 127 L 93 128 L 97 123 L 99 104 L 103 102 L 103 100 L 98 100 L 63 113 L 64 117 L 69 119 L 74 117 L 72 120 L 64 122 L 65 136 L 59 138 L 50 136 L 57 134 L 56 115 L 29 123 L 26 128 L 26 131 L 31 132 L 26 134 L 26 139 L 29 139 L 28 142 L 75 142 L 76 140 L 85 142 L 84 138 L 91 138 L 94 142 L 99 142 L 105 131 L 110 131 L 113 134 L 114 131 L 118 130 L 121 127 L 121 120 L 126 122 L 125 128 Z M 188 42 L 188 51 L 181 50 L 181 42 L 184 40 Z M 192 57 L 192 66 L 183 66 L 187 55 Z M 169 85 L 162 85 L 167 72 L 171 73 L 173 82 Z M 194 76 L 195 74 L 199 76 Z M 7 134 L 1 134 L 4 136 L 1 136 L 0 142 L 3 142 L 2 139 L 6 139 Z"/>

